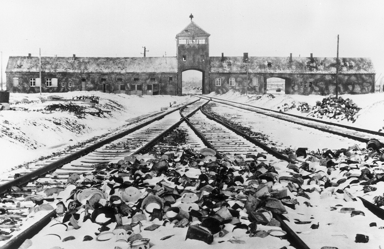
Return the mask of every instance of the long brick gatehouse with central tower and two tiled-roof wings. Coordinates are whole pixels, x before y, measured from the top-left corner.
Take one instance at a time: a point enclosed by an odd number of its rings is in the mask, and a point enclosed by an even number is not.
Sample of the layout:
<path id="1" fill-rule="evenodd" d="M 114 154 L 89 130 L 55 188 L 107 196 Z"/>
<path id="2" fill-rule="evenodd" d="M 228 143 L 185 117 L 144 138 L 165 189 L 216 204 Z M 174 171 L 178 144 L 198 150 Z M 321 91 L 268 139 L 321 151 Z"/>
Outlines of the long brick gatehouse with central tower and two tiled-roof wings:
<path id="1" fill-rule="evenodd" d="M 268 78 L 285 80 L 286 94 L 335 93 L 336 58 L 209 56 L 210 34 L 192 21 L 176 35 L 176 57 L 10 56 L 7 89 L 34 93 L 91 91 L 134 95 L 182 95 L 182 72 L 202 72 L 202 92 L 265 93 Z M 247 80 L 248 79 L 248 80 Z M 373 93 L 370 58 L 339 58 L 339 93 Z"/>

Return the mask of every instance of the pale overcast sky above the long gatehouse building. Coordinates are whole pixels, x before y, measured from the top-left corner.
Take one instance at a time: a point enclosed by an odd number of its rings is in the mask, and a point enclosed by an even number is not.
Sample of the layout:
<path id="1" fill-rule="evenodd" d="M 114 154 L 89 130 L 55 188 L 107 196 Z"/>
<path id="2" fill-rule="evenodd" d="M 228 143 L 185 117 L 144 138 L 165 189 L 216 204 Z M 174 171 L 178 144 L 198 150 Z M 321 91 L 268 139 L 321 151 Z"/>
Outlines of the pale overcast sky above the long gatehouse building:
<path id="1" fill-rule="evenodd" d="M 210 56 L 371 57 L 384 72 L 384 3 L 374 1 L 1 0 L 3 82 L 9 56 L 175 56 L 190 22 Z M 384 75 L 384 73 L 383 73 Z M 382 77 L 381 75 L 380 77 Z"/>

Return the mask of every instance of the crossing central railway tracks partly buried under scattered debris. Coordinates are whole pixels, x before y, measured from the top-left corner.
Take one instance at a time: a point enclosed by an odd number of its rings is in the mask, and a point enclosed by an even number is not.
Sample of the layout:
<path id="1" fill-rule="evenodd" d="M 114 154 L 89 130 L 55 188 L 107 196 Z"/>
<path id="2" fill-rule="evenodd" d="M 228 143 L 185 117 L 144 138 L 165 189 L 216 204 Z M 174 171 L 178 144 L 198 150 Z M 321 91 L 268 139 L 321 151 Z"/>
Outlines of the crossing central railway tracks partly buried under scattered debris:
<path id="1" fill-rule="evenodd" d="M 224 158 L 226 154 L 249 154 L 257 156 L 256 160 L 258 162 L 275 162 L 277 163 L 274 164 L 275 168 L 280 176 L 291 177 L 295 173 L 286 167 L 289 163 L 297 164 L 300 162 L 293 161 L 286 156 L 277 153 L 268 146 L 265 146 L 250 136 L 247 136 L 247 134 L 237 131 L 225 123 L 216 120 L 212 116 L 207 115 L 207 113 L 200 110 L 200 106 L 206 102 L 207 101 L 203 100 L 197 101 L 192 105 L 180 108 L 179 114 L 175 112 L 170 113 L 167 118 L 164 116 L 160 120 L 153 120 L 152 122 L 149 122 L 149 126 L 142 126 L 134 129 L 134 131 L 130 130 L 129 134 L 124 134 L 124 136 L 119 135 L 120 137 L 118 139 L 113 139 L 113 141 L 108 141 L 108 143 L 105 144 L 98 144 L 98 146 L 94 146 L 97 148 L 93 149 L 90 153 L 71 160 L 70 162 L 65 162 L 65 160 L 60 159 L 61 164 L 63 165 L 61 165 L 60 169 L 56 169 L 55 172 L 50 174 L 35 173 L 33 175 L 29 173 L 31 179 L 41 175 L 44 175 L 44 178 L 39 178 L 34 184 L 29 183 L 28 185 L 20 187 L 20 194 L 25 194 L 25 192 L 28 191 L 33 193 L 32 191 L 35 191 L 36 185 L 40 184 L 65 184 L 66 180 L 70 176 L 70 173 L 90 174 L 94 171 L 95 166 L 106 166 L 111 161 L 117 163 L 125 156 L 137 153 L 147 153 L 149 151 L 156 153 L 157 155 L 161 155 L 166 151 L 179 148 L 179 146 L 184 143 L 189 144 L 190 148 L 194 148 L 196 150 L 205 146 L 212 148 L 217 152 L 216 156 L 218 159 Z M 79 151 L 81 151 L 81 153 L 79 153 Z M 77 153 L 83 154 L 84 149 L 78 150 Z M 57 161 L 51 164 L 57 164 Z M 45 169 L 48 168 L 47 166 L 43 166 L 43 168 L 44 167 L 46 167 Z M 5 191 L 2 192 L 5 193 L 9 190 L 9 188 L 12 188 L 12 186 L 20 186 L 25 183 L 26 182 L 20 183 L 13 181 L 11 184 L 3 186 L 3 188 L 0 186 L 0 189 L 5 189 Z M 23 191 L 24 193 L 22 193 Z M 294 193 L 294 191 L 292 193 Z M 15 193 L 14 191 L 12 194 L 17 195 L 18 193 Z M 312 198 L 317 198 L 317 194 L 317 192 L 308 192 L 308 195 Z M 293 194 L 293 196 L 295 196 L 295 194 Z M 300 201 L 300 203 L 305 202 L 305 200 L 302 200 L 302 198 L 305 197 L 299 195 L 298 193 L 296 193 L 296 198 Z M 14 200 L 17 199 L 14 198 Z M 304 206 L 300 206 L 300 208 L 304 208 Z M 298 219 L 297 217 L 300 217 L 300 214 L 297 214 L 297 212 L 293 211 L 293 209 L 289 209 L 289 211 L 290 212 L 285 214 L 285 216 L 276 214 L 274 216 L 281 223 L 281 228 L 288 234 L 286 239 L 288 239 L 290 244 L 295 246 L 297 249 L 316 248 L 313 247 L 317 246 L 316 243 L 308 238 L 306 242 L 304 242 L 305 238 L 303 240 L 300 235 L 303 234 L 308 227 L 303 229 L 303 226 L 297 226 L 292 222 L 293 219 Z M 8 241 L 7 244 L 1 248 L 17 248 L 23 241 L 25 241 L 26 238 L 33 236 L 33 234 L 36 234 L 36 232 L 40 231 L 43 226 L 48 224 L 51 217 L 54 215 L 55 210 L 48 212 L 46 216 L 42 217 L 42 219 L 37 221 L 35 224 L 31 225 L 18 236 Z M 311 217 L 314 217 L 315 221 L 319 221 L 321 219 L 316 215 L 316 212 L 311 214 Z M 294 227 L 294 229 L 291 227 Z M 312 244 L 313 246 L 307 246 L 307 244 Z"/>

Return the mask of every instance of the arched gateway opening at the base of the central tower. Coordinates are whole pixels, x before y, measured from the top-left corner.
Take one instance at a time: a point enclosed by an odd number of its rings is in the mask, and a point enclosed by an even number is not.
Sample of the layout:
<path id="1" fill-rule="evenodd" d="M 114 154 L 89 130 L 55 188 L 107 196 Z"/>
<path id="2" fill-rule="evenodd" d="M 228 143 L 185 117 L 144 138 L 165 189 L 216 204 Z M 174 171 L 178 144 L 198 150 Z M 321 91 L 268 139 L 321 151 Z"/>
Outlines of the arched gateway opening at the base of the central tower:
<path id="1" fill-rule="evenodd" d="M 202 71 L 190 69 L 182 72 L 182 92 L 188 93 L 203 93 L 204 75 Z"/>

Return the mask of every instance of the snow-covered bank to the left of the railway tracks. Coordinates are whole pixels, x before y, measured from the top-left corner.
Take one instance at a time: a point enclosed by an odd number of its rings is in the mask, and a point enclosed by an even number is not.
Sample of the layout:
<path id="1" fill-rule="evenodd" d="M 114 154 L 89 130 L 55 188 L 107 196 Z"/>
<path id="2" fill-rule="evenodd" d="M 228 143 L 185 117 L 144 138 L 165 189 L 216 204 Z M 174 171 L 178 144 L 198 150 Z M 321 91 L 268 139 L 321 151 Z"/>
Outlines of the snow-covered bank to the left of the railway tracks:
<path id="1" fill-rule="evenodd" d="M 99 96 L 97 108 L 110 113 L 93 116 L 86 114 L 79 118 L 67 111 L 46 111 L 51 104 L 64 101 L 49 101 L 49 96 L 70 99 L 74 96 Z M 5 171 L 24 162 L 35 160 L 63 151 L 67 146 L 86 141 L 95 136 L 110 133 L 141 116 L 161 111 L 176 101 L 176 105 L 192 101 L 190 96 L 136 96 L 109 94 L 98 91 L 73 91 L 68 93 L 10 94 L 10 107 L 16 110 L 0 111 L 0 151 L 1 168 Z M 78 102 L 76 102 L 78 103 Z M 86 111 L 98 111 L 88 104 Z"/>

